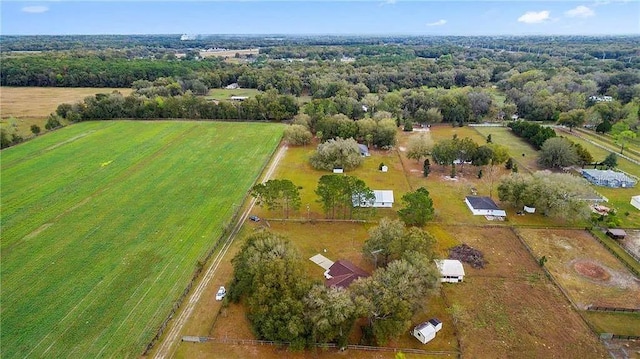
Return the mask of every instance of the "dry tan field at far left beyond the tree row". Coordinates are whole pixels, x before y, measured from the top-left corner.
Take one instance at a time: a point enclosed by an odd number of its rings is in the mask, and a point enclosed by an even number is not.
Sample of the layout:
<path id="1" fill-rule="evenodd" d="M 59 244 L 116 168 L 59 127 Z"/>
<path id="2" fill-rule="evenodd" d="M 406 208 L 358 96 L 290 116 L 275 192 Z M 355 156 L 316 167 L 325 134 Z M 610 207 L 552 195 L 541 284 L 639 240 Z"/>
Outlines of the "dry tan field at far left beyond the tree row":
<path id="1" fill-rule="evenodd" d="M 2 118 L 46 117 L 61 103 L 75 103 L 97 93 L 120 91 L 128 95 L 130 88 L 104 87 L 0 87 Z M 44 123 L 42 126 L 44 130 Z"/>

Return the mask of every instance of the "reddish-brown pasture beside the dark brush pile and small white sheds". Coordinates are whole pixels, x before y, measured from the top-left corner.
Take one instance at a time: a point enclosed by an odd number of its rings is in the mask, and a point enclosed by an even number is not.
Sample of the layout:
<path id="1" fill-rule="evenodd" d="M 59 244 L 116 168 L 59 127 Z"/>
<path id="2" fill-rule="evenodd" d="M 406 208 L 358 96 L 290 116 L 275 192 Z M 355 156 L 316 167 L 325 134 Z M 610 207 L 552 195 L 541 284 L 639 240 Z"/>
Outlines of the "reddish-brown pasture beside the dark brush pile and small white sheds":
<path id="1" fill-rule="evenodd" d="M 463 283 L 443 285 L 463 357 L 606 357 L 589 327 L 511 230 L 445 229 L 482 251 L 487 260 L 484 269 L 465 264 Z"/>

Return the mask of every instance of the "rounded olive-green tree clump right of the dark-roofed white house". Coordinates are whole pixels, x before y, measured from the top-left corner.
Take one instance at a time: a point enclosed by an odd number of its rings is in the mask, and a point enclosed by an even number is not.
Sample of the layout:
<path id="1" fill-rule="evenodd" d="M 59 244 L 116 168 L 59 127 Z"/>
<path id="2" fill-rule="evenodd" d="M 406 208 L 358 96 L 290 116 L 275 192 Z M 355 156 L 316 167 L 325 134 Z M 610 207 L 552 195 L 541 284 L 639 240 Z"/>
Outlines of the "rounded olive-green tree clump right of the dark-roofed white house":
<path id="1" fill-rule="evenodd" d="M 498 185 L 500 201 L 514 207 L 535 207 L 545 216 L 583 220 L 591 210 L 585 195 L 590 195 L 589 183 L 567 173 L 538 171 L 533 175 L 513 173 Z"/>

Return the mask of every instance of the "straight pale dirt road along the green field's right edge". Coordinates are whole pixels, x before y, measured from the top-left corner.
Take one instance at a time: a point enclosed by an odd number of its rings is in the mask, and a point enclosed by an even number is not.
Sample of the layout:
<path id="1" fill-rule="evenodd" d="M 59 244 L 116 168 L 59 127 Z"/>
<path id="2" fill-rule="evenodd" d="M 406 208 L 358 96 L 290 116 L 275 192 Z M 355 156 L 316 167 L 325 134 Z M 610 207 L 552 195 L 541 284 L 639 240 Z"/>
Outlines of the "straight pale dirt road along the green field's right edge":
<path id="1" fill-rule="evenodd" d="M 264 178 L 262 180 L 263 182 L 271 178 L 276 168 L 278 167 L 278 163 L 280 163 L 280 160 L 282 159 L 282 157 L 284 157 L 286 150 L 287 150 L 287 146 L 285 145 L 281 146 L 280 149 L 278 149 L 278 152 L 274 156 L 273 161 L 271 161 L 271 164 L 269 165 L 269 167 L 267 168 L 267 171 L 265 172 Z M 191 317 L 191 314 L 193 313 L 193 310 L 195 309 L 196 304 L 200 301 L 200 297 L 202 297 L 202 294 L 204 293 L 205 288 L 207 287 L 211 279 L 215 276 L 216 271 L 218 270 L 218 266 L 220 266 L 222 259 L 224 258 L 225 254 L 231 247 L 231 244 L 233 243 L 233 241 L 236 239 L 236 236 L 238 235 L 240 228 L 242 228 L 244 221 L 246 221 L 254 205 L 255 205 L 255 199 L 252 199 L 247 210 L 244 211 L 244 213 L 242 213 L 240 220 L 238 220 L 238 223 L 236 223 L 235 227 L 233 227 L 233 230 L 231 231 L 231 234 L 229 234 L 229 237 L 227 237 L 226 241 L 224 242 L 222 249 L 220 250 L 220 252 L 218 252 L 218 254 L 216 254 L 213 261 L 211 261 L 211 265 L 207 268 L 202 278 L 202 281 L 200 281 L 196 289 L 189 296 L 189 299 L 186 305 L 183 307 L 184 309 L 174 319 L 173 324 L 170 325 L 171 329 L 167 332 L 166 337 L 164 337 L 162 342 L 160 343 L 160 346 L 158 347 L 158 351 L 156 352 L 154 358 L 156 359 L 169 358 L 173 355 L 173 353 L 177 349 L 177 344 L 179 343 L 179 340 L 181 338 L 180 334 L 182 332 L 182 328 Z"/>

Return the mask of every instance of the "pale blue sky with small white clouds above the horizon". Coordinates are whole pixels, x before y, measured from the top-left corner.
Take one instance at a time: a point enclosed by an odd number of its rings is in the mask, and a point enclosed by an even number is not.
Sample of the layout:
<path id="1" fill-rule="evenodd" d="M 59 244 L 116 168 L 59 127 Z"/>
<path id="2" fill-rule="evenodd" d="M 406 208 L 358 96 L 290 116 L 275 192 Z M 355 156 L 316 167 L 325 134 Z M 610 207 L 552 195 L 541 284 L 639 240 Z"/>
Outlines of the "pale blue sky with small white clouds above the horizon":
<path id="1" fill-rule="evenodd" d="M 3 35 L 640 34 L 640 0 L 0 1 Z"/>

